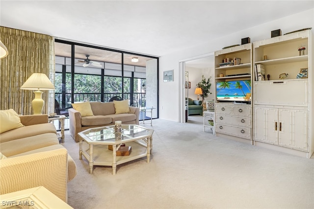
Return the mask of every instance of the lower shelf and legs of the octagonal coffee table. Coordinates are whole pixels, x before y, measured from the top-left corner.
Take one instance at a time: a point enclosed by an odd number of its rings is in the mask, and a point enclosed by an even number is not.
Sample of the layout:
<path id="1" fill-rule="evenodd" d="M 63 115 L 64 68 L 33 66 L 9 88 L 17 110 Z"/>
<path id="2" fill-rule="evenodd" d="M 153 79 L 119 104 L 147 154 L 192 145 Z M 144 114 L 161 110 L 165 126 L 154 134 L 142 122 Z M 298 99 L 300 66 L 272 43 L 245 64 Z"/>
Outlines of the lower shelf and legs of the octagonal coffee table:
<path id="1" fill-rule="evenodd" d="M 93 173 L 94 165 L 101 166 L 112 166 L 112 174 L 116 174 L 116 166 L 122 163 L 127 163 L 139 158 L 147 157 L 147 163 L 150 163 L 150 139 L 149 141 L 149 151 L 147 149 L 147 142 L 143 139 L 130 141 L 125 143 L 126 146 L 131 146 L 131 153 L 129 156 L 115 156 L 114 151 L 108 149 L 108 145 L 105 144 L 87 144 L 86 142 L 82 143 L 82 151 L 79 153 L 79 159 L 82 160 L 82 156 L 89 161 L 89 173 Z M 113 145 L 115 146 L 115 145 Z"/>

